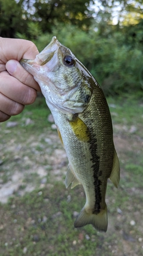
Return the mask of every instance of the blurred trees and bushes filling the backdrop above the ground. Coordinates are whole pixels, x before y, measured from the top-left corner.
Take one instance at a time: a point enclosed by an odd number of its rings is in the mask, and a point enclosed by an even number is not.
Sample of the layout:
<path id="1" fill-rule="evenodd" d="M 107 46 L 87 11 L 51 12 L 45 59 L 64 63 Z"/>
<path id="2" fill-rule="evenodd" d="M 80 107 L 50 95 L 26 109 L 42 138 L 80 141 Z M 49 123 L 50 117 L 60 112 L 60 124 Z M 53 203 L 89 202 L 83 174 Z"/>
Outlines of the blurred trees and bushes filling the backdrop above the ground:
<path id="1" fill-rule="evenodd" d="M 0 36 L 32 40 L 41 51 L 56 35 L 106 95 L 142 95 L 142 10 L 142 0 L 0 0 Z"/>

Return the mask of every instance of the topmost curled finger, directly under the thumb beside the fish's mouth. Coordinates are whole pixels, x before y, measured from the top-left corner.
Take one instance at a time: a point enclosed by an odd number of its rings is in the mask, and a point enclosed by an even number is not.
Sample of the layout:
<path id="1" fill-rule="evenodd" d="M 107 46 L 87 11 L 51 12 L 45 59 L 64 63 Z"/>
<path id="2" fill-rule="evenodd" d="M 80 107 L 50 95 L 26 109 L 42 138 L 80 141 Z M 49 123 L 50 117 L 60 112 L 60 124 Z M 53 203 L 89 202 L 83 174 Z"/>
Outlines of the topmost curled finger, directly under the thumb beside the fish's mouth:
<path id="1" fill-rule="evenodd" d="M 29 74 L 23 67 L 21 67 L 18 61 L 10 60 L 7 62 L 5 67 L 7 68 L 8 73 L 18 79 L 21 83 L 34 88 L 36 91 L 41 91 L 33 76 Z"/>

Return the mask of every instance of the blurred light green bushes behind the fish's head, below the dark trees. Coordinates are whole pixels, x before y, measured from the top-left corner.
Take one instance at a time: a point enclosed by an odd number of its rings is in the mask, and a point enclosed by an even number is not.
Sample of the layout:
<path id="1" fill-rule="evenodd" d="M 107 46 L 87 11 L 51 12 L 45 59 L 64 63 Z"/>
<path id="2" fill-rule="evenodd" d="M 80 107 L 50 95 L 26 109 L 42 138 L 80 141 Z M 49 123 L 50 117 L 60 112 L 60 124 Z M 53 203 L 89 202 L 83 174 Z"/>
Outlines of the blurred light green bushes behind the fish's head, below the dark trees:
<path id="1" fill-rule="evenodd" d="M 126 44 L 122 30 L 112 37 L 103 38 L 92 28 L 87 33 L 71 25 L 53 27 L 52 32 L 34 40 L 41 51 L 56 35 L 58 40 L 71 49 L 100 83 L 106 95 L 142 94 L 143 57 L 139 42 L 135 46 Z"/>

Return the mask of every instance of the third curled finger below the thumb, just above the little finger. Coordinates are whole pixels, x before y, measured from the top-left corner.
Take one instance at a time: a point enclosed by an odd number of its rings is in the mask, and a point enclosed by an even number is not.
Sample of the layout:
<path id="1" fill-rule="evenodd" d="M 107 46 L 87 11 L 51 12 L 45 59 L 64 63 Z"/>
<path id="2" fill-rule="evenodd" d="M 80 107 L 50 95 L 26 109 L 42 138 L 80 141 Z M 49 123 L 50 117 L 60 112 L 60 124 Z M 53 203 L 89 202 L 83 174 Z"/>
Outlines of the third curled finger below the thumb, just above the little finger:
<path id="1" fill-rule="evenodd" d="M 20 114 L 24 109 L 24 106 L 17 103 L 10 98 L 5 97 L 5 95 L 0 94 L 0 110 L 8 116 L 15 116 Z"/>

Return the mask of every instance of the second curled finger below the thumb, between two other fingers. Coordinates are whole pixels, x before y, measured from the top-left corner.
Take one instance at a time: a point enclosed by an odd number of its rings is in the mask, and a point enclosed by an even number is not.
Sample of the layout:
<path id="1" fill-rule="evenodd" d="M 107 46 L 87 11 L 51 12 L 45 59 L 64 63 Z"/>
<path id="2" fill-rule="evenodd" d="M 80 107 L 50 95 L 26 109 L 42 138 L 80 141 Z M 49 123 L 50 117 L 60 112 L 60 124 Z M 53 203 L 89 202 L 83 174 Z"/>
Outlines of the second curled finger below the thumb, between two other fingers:
<path id="1" fill-rule="evenodd" d="M 15 77 L 10 76 L 7 71 L 0 73 L 0 92 L 5 97 L 23 105 L 34 103 L 37 97 L 35 89 L 24 85 Z"/>

